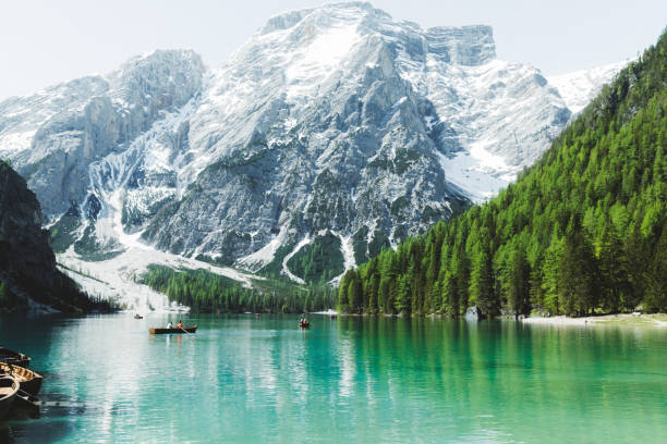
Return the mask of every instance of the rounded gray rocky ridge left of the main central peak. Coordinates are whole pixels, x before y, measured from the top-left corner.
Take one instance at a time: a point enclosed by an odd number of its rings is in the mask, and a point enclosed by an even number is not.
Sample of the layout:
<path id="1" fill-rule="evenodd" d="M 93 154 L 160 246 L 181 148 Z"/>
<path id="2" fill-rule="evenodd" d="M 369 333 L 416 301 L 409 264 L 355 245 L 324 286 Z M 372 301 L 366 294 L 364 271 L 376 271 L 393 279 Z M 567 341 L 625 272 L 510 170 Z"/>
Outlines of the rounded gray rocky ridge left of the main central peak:
<path id="1" fill-rule="evenodd" d="M 156 51 L 106 77 L 9 99 L 0 103 L 1 151 L 10 151 L 44 211 L 61 213 L 84 200 L 89 165 L 123 150 L 161 113 L 183 107 L 201 90 L 203 71 L 192 51 Z"/>

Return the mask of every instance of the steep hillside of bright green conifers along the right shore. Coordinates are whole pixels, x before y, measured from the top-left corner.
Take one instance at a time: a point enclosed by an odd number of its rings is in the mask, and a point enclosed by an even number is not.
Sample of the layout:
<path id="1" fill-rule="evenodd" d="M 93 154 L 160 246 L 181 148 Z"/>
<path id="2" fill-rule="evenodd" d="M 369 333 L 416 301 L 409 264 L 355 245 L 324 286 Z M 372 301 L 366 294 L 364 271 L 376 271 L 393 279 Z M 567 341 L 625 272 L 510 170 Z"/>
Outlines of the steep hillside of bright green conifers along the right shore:
<path id="1" fill-rule="evenodd" d="M 351 312 L 667 310 L 667 34 L 496 198 L 349 270 Z"/>

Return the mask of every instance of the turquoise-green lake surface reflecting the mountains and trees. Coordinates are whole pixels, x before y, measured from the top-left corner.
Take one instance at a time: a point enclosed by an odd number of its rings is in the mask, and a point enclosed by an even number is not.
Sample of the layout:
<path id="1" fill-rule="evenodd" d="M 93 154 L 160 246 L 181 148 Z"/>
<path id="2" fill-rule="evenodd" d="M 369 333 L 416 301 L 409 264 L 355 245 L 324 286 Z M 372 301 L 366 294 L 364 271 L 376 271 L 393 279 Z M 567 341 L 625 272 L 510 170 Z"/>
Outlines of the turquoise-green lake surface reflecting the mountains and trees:
<path id="1" fill-rule="evenodd" d="M 666 443 L 667 329 L 187 314 L 0 318 L 45 375 L 0 442 Z"/>

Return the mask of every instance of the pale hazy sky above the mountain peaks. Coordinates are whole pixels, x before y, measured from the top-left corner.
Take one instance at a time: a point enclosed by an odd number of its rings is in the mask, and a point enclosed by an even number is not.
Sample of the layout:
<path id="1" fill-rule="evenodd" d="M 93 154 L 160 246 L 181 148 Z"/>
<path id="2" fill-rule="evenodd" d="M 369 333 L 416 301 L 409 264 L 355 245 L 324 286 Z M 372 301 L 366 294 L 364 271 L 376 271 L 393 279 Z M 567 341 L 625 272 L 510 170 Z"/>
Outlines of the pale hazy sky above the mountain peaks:
<path id="1" fill-rule="evenodd" d="M 322 0 L 0 0 L 0 99 L 137 53 L 192 48 L 216 66 L 268 17 Z M 423 28 L 488 24 L 504 60 L 561 74 L 636 55 L 667 26 L 667 0 L 375 0 Z"/>

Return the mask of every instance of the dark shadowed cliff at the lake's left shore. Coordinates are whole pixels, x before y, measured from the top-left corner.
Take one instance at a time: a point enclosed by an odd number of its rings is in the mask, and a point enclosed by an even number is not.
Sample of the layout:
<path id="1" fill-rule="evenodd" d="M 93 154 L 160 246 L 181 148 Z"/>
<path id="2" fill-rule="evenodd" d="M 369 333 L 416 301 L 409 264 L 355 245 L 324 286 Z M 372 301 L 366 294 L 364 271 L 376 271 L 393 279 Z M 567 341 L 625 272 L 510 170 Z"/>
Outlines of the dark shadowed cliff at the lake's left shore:
<path id="1" fill-rule="evenodd" d="M 41 229 L 35 194 L 0 161 L 0 308 L 27 309 L 34 301 L 60 310 L 86 307 L 87 297 L 56 268 L 49 235 Z M 9 306 L 9 307 L 8 307 Z"/>

